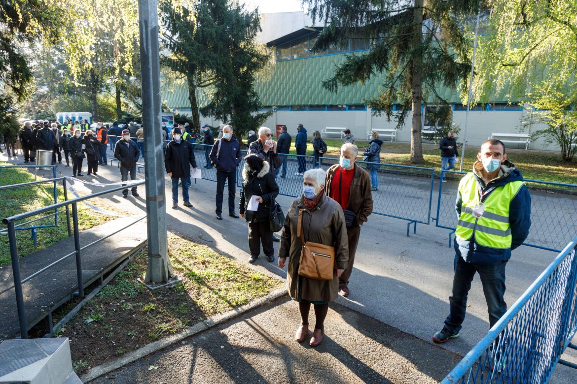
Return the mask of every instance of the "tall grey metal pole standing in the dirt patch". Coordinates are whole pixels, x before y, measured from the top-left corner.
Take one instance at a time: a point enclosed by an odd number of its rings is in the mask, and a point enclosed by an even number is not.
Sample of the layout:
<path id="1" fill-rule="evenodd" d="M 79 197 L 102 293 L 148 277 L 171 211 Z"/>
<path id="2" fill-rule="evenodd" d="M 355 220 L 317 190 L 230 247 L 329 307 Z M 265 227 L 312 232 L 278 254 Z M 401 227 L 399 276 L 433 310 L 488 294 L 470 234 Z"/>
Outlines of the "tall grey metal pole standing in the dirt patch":
<path id="1" fill-rule="evenodd" d="M 160 55 L 157 0 L 138 0 L 140 67 L 142 78 L 144 158 L 148 267 L 145 283 L 167 283 L 172 275 L 168 261 L 166 199 L 160 138 Z"/>

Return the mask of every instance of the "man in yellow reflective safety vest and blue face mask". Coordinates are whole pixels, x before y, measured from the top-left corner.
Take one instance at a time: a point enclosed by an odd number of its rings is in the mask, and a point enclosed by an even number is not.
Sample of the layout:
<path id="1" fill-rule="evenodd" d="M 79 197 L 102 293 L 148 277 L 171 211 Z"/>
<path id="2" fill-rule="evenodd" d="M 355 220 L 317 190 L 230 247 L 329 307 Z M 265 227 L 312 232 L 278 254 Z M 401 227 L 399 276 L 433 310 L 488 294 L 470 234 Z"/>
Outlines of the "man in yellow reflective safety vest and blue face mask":
<path id="1" fill-rule="evenodd" d="M 523 244 L 531 226 L 531 196 L 523 176 L 507 160 L 505 145 L 489 139 L 481 146 L 473 172 L 459 183 L 456 200 L 459 218 L 450 313 L 435 343 L 458 337 L 465 317 L 467 294 L 479 273 L 492 327 L 507 311 L 505 265 L 511 250 Z"/>

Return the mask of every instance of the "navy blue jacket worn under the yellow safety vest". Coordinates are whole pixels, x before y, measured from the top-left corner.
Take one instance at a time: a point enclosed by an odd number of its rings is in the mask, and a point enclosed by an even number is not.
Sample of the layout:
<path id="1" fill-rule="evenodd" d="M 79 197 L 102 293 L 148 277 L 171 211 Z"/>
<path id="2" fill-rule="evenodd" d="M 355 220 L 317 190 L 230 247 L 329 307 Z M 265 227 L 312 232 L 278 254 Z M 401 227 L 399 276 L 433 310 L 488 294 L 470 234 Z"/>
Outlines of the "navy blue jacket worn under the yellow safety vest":
<path id="1" fill-rule="evenodd" d="M 508 168 L 508 172 L 502 177 L 490 181 L 487 185 L 485 185 L 485 181 L 481 177 L 474 173 L 477 184 L 482 187 L 483 191 L 487 191 L 493 187 L 501 187 L 502 185 L 511 183 L 511 181 L 523 180 L 523 175 L 515 168 L 512 162 L 505 160 L 503 165 Z M 473 167 L 474 166 L 475 165 L 473 165 Z M 494 193 L 494 189 L 486 196 L 489 196 L 490 193 Z M 461 215 L 462 203 L 463 200 L 461 199 L 460 193 L 458 193 L 455 203 L 457 217 Z M 509 203 L 509 225 L 511 226 L 512 237 L 511 248 L 489 248 L 477 244 L 474 237 L 465 240 L 455 236 L 455 252 L 469 263 L 496 265 L 509 260 L 509 258 L 511 258 L 511 250 L 523 244 L 523 241 L 525 241 L 527 235 L 529 235 L 529 228 L 531 227 L 531 195 L 529 195 L 529 188 L 527 188 L 526 185 L 523 185 L 523 187 L 519 189 L 517 195 L 511 200 L 511 203 Z"/>

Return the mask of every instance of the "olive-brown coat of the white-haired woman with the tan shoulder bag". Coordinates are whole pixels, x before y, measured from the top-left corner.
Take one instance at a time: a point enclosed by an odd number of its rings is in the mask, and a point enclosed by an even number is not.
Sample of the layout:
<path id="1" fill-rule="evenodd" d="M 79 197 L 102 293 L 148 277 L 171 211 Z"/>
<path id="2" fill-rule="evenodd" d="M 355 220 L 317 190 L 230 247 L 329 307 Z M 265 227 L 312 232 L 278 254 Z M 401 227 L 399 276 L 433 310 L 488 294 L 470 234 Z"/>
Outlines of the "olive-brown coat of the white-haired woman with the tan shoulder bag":
<path id="1" fill-rule="evenodd" d="M 280 237 L 279 257 L 288 257 L 287 286 L 291 298 L 297 301 L 301 298 L 309 301 L 334 301 L 339 295 L 339 278 L 336 273 L 334 279 L 326 281 L 298 275 L 302 246 L 297 234 L 299 210 L 304 210 L 302 230 L 305 241 L 334 245 L 336 265 L 339 269 L 345 269 L 349 262 L 349 240 L 343 210 L 335 200 L 323 196 L 319 204 L 309 211 L 303 197 L 298 197 L 288 208 Z"/>

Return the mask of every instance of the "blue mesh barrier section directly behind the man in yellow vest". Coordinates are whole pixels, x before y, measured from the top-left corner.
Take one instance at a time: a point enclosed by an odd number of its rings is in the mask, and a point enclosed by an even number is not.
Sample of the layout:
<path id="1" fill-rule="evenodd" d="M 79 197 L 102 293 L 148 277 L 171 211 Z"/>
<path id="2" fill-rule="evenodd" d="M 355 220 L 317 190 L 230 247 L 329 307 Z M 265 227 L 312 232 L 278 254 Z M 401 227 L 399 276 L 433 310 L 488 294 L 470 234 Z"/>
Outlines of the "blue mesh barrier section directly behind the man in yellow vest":
<path id="1" fill-rule="evenodd" d="M 455 199 L 464 174 L 447 171 L 447 183 L 439 183 L 437 215 L 433 220 L 437 227 L 452 230 L 449 246 L 457 222 Z M 565 239 L 577 233 L 577 185 L 531 179 L 525 183 L 531 192 L 531 229 L 523 244 L 560 252 Z"/>

